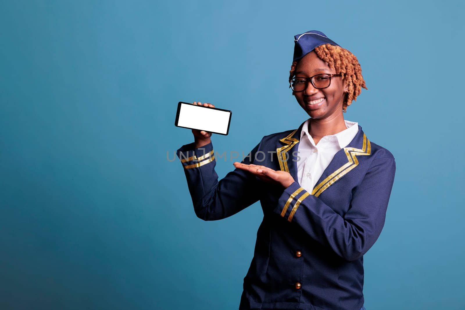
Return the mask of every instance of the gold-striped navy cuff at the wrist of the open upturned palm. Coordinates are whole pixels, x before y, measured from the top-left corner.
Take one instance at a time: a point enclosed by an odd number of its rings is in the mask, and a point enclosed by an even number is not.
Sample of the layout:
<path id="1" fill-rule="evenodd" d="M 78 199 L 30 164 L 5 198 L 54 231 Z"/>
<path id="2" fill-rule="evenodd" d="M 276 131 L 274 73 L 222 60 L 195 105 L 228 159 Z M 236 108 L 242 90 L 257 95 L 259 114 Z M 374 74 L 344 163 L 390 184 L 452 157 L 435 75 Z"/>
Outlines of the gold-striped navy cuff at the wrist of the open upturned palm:
<path id="1" fill-rule="evenodd" d="M 310 192 L 306 191 L 299 183 L 294 181 L 294 183 L 283 191 L 281 197 L 279 197 L 278 205 L 273 211 L 291 222 L 300 203 L 309 195 Z"/>

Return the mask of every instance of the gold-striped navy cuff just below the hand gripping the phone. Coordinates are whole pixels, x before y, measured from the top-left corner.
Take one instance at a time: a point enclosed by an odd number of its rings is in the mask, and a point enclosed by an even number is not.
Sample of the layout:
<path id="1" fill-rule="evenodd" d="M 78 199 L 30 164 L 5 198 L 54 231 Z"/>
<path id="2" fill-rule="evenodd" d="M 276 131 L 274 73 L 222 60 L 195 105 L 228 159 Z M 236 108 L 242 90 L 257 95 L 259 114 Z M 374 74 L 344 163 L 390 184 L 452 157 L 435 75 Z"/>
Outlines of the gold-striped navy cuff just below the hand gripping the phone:
<path id="1" fill-rule="evenodd" d="M 181 146 L 176 155 L 181 160 L 184 169 L 199 168 L 215 160 L 212 141 L 207 145 L 195 148 L 195 143 Z"/>

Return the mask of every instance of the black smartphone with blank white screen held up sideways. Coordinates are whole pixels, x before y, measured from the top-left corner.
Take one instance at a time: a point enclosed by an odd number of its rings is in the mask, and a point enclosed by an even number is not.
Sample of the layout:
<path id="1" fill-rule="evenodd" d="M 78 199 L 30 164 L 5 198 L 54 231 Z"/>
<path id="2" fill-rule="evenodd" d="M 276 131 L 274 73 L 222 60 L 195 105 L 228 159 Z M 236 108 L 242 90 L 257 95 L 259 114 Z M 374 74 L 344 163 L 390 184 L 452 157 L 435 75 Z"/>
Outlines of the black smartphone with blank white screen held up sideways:
<path id="1" fill-rule="evenodd" d="M 182 128 L 198 129 L 206 132 L 227 135 L 231 124 L 229 110 L 179 102 L 174 125 Z"/>

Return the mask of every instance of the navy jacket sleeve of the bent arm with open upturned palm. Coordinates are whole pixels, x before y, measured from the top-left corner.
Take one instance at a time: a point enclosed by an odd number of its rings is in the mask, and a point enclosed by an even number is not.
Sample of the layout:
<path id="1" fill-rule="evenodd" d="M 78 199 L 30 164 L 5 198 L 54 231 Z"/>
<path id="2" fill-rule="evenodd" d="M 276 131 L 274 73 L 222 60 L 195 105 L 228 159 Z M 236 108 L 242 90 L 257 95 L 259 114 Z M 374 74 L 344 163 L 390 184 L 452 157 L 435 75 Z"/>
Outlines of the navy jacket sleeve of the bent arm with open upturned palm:
<path id="1" fill-rule="evenodd" d="M 284 190 L 273 211 L 290 224 L 299 225 L 338 256 L 357 260 L 372 247 L 383 229 L 395 171 L 394 158 L 374 159 L 361 184 L 352 190 L 344 217 L 297 182 Z"/>

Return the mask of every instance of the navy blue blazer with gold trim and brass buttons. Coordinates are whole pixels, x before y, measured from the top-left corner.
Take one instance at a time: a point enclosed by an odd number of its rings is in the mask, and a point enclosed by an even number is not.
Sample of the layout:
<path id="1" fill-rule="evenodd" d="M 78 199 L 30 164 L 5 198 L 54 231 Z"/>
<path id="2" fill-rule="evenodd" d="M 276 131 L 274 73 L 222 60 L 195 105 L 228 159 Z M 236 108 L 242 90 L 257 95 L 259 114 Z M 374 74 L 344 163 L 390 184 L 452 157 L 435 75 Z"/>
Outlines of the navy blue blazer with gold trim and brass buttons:
<path id="1" fill-rule="evenodd" d="M 263 137 L 242 162 L 298 180 L 302 125 Z M 359 125 L 310 192 L 297 181 L 284 189 L 239 168 L 218 181 L 212 143 L 194 147 L 183 145 L 177 155 L 197 217 L 227 218 L 257 201 L 263 209 L 239 310 L 362 307 L 363 255 L 385 223 L 396 171 L 391 152 L 370 142 Z"/>

